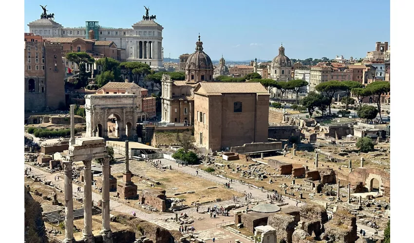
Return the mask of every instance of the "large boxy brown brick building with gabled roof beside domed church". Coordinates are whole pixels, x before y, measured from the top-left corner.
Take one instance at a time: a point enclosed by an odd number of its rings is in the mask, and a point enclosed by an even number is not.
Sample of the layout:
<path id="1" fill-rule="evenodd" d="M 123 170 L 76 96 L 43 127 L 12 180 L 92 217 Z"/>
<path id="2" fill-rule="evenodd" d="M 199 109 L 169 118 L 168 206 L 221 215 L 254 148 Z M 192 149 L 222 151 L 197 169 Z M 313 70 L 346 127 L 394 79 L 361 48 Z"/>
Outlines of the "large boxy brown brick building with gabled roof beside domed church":
<path id="1" fill-rule="evenodd" d="M 199 147 L 267 142 L 269 93 L 259 83 L 201 82 L 194 89 L 194 114 Z"/>

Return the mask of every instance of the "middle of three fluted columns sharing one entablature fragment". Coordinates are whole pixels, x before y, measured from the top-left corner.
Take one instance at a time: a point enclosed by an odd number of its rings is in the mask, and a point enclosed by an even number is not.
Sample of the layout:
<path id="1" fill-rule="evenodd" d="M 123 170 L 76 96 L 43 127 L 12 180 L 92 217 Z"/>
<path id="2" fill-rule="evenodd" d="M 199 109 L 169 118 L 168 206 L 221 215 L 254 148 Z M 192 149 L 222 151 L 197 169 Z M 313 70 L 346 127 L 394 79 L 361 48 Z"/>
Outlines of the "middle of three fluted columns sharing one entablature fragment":
<path id="1" fill-rule="evenodd" d="M 94 235 L 92 234 L 92 160 L 84 160 L 83 165 L 83 239 L 85 243 L 93 243 Z"/>

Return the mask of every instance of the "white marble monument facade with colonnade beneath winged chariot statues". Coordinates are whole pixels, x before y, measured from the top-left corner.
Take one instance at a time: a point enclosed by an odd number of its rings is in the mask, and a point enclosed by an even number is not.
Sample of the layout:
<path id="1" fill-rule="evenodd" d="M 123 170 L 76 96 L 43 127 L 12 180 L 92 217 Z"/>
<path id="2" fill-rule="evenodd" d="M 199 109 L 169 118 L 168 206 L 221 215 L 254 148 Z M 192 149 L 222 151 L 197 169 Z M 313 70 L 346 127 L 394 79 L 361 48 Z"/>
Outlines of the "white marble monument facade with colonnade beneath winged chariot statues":
<path id="1" fill-rule="evenodd" d="M 29 32 L 44 37 L 86 38 L 86 27 L 64 28 L 51 19 L 38 19 L 28 24 Z M 127 61 L 164 67 L 162 53 L 163 27 L 154 20 L 141 20 L 132 29 L 98 28 L 99 40 L 113 41 L 127 52 Z"/>

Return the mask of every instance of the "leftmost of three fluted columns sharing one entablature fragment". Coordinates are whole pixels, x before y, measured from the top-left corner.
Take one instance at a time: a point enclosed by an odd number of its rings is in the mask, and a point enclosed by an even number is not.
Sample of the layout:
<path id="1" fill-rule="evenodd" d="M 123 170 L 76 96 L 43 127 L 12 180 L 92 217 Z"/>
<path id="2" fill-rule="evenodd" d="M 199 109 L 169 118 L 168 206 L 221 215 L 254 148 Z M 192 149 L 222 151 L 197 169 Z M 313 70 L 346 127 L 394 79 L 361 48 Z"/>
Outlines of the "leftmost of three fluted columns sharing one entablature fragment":
<path id="1" fill-rule="evenodd" d="M 74 202 L 72 191 L 72 162 L 63 161 L 65 174 L 65 243 L 75 242 L 74 238 Z"/>

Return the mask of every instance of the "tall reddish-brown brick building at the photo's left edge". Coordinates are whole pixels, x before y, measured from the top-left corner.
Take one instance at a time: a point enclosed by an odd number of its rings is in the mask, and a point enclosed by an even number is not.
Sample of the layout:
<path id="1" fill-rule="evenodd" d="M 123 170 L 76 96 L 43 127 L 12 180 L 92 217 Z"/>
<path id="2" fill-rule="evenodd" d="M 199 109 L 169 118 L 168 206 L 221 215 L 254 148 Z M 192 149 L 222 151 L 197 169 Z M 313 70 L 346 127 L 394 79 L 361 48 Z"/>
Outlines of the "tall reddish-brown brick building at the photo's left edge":
<path id="1" fill-rule="evenodd" d="M 24 109 L 65 107 L 62 46 L 31 33 L 25 33 L 24 40 Z"/>

